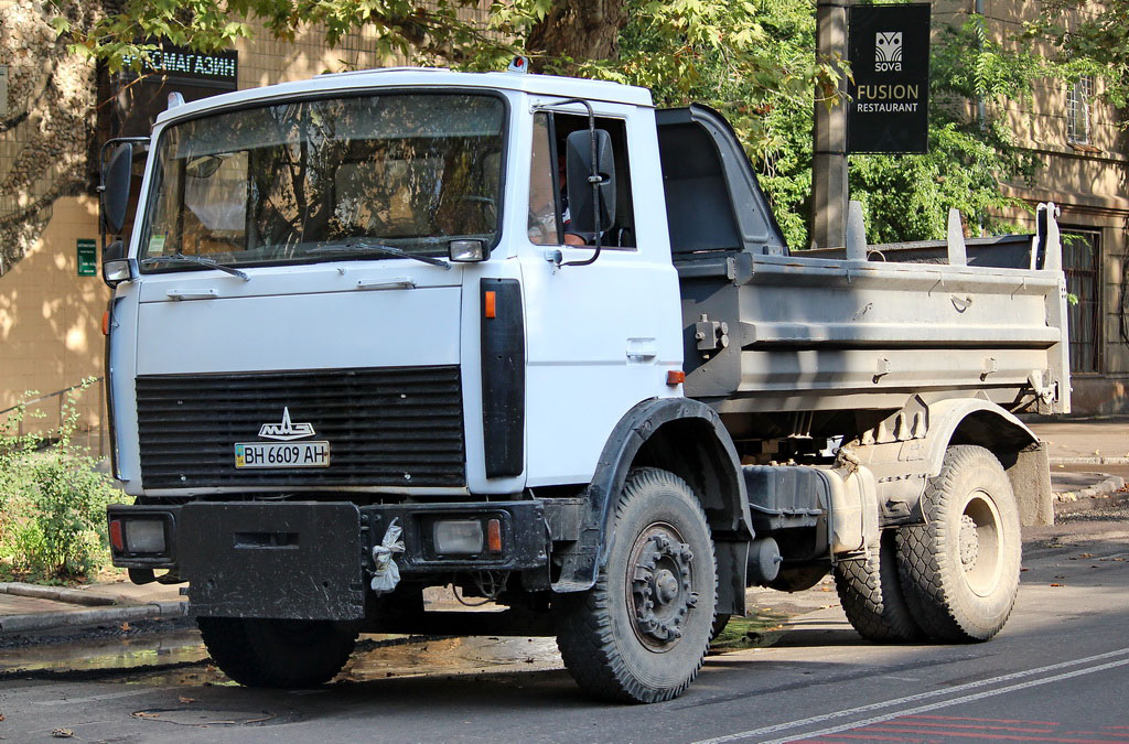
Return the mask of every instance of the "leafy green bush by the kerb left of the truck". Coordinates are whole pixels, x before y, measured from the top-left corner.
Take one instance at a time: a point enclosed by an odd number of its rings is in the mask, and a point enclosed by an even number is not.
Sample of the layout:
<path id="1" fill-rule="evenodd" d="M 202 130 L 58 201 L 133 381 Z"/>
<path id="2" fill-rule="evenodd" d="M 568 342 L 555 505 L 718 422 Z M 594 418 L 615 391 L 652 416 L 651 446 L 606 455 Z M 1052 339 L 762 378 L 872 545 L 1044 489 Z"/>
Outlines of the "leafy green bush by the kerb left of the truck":
<path id="1" fill-rule="evenodd" d="M 85 578 L 108 558 L 106 505 L 120 492 L 96 461 L 72 441 L 76 401 L 90 384 L 68 393 L 50 439 L 19 435 L 26 404 L 0 422 L 0 572 L 60 580 Z M 26 399 L 25 399 L 26 400 Z"/>

